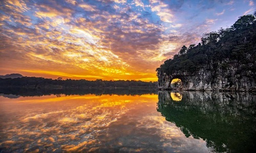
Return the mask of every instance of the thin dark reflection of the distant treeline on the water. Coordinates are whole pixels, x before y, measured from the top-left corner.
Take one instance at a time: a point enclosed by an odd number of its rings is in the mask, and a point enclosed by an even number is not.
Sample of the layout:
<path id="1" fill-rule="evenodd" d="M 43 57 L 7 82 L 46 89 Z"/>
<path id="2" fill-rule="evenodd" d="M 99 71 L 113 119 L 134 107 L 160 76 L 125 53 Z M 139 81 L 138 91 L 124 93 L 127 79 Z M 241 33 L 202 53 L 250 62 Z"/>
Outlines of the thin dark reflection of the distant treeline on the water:
<path id="1" fill-rule="evenodd" d="M 42 95 L 85 95 L 85 94 L 117 94 L 117 95 L 142 95 L 157 94 L 156 89 L 140 89 L 140 88 L 88 88 L 88 89 L 29 89 L 29 88 L 0 88 L 0 94 L 17 95 L 17 96 L 42 96 Z M 12 98 L 14 98 L 12 96 Z"/>

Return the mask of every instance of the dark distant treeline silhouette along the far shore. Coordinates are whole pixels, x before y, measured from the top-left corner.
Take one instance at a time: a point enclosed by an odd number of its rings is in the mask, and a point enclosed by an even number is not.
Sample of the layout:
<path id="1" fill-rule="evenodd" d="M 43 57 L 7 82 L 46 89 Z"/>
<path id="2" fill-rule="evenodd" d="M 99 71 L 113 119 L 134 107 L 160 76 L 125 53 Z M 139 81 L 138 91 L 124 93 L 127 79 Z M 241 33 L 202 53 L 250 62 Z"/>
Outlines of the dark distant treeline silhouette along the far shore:
<path id="1" fill-rule="evenodd" d="M 143 81 L 96 81 L 88 80 L 62 80 L 58 78 L 45 79 L 37 77 L 22 77 L 22 78 L 0 78 L 0 87 L 23 87 L 23 88 L 47 88 L 47 89 L 62 89 L 62 88 L 156 88 L 157 82 Z"/>

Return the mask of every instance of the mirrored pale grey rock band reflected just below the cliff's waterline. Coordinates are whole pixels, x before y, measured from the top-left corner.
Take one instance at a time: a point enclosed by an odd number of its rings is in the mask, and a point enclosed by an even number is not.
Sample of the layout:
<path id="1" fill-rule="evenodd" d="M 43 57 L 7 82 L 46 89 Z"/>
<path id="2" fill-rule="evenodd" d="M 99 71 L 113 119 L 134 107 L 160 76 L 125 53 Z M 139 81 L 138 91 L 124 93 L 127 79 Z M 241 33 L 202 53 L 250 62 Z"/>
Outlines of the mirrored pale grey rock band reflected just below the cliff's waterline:
<path id="1" fill-rule="evenodd" d="M 182 99 L 178 102 L 173 100 L 170 93 L 170 91 L 158 91 L 158 109 L 171 105 L 176 109 L 184 110 L 196 107 L 203 113 L 255 114 L 256 95 L 253 92 L 180 91 L 178 93 L 182 95 Z"/>

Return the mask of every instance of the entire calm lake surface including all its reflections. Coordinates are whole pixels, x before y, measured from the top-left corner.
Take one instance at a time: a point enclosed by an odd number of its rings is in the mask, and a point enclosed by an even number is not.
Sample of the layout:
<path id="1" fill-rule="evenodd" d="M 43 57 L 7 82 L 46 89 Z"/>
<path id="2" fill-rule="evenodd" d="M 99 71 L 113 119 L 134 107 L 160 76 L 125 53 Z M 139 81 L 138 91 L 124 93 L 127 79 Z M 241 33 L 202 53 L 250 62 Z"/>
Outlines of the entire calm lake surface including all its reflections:
<path id="1" fill-rule="evenodd" d="M 256 150 L 252 93 L 0 93 L 0 152 Z"/>

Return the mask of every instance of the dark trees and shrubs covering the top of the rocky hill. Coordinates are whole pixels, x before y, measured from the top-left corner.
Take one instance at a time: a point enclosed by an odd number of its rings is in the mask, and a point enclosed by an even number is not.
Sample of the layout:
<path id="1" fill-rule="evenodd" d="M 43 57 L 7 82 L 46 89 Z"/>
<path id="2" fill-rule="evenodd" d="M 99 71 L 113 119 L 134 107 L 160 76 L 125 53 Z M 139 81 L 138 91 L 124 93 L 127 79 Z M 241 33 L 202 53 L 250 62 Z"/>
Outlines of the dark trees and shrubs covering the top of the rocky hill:
<path id="1" fill-rule="evenodd" d="M 183 46 L 172 59 L 166 60 L 157 71 L 166 74 L 176 71 L 195 72 L 200 68 L 227 70 L 232 64 L 239 67 L 237 73 L 256 72 L 256 20 L 249 14 L 227 29 L 205 33 L 198 45 Z"/>

